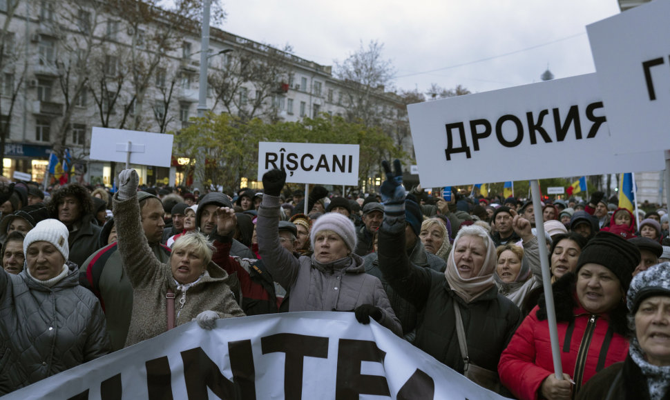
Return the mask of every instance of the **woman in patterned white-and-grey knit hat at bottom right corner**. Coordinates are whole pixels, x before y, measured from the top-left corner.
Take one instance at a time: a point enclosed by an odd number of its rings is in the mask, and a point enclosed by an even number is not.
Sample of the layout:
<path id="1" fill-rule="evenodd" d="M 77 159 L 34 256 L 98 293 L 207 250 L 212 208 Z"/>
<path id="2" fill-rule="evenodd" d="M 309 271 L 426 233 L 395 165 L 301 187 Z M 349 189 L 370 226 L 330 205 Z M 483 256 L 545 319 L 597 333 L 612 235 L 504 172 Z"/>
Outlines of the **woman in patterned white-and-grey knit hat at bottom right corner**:
<path id="1" fill-rule="evenodd" d="M 635 332 L 626 359 L 598 372 L 577 399 L 670 398 L 670 263 L 635 275 L 626 303 Z"/>

